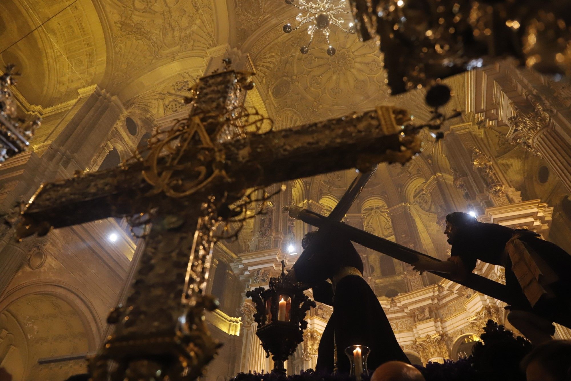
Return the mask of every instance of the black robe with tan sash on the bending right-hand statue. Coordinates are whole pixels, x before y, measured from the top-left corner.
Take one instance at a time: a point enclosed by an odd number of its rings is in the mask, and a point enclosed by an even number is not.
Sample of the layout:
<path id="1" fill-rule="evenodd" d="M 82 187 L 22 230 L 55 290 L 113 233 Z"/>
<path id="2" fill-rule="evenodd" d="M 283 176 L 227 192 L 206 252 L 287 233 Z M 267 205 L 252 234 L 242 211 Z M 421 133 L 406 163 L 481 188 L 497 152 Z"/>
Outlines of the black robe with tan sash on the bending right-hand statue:
<path id="1" fill-rule="evenodd" d="M 466 272 L 478 259 L 503 266 L 512 308 L 571 322 L 571 256 L 538 237 L 524 229 L 473 223 L 455 233 L 450 260 Z"/>

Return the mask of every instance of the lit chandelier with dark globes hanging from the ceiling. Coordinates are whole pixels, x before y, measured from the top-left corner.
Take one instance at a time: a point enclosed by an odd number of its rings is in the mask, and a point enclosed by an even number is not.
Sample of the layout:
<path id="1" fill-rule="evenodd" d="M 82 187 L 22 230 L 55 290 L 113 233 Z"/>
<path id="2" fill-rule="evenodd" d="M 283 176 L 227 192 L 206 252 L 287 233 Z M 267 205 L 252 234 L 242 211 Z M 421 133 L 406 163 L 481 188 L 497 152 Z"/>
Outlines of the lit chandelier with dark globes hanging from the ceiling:
<path id="1" fill-rule="evenodd" d="M 340 0 L 337 5 L 333 4 L 333 0 L 317 0 L 314 2 L 305 2 L 304 0 L 286 0 L 289 5 L 295 6 L 300 10 L 300 13 L 295 18 L 299 24 L 296 27 L 292 27 L 290 23 L 283 26 L 283 30 L 286 33 L 292 30 L 299 29 L 301 26 L 309 23 L 307 27 L 307 33 L 309 34 L 309 42 L 307 45 L 301 46 L 299 49 L 301 54 L 307 54 L 309 51 L 309 45 L 313 41 L 313 35 L 316 33 L 323 33 L 325 36 L 325 41 L 327 41 L 327 54 L 335 54 L 335 47 L 331 46 L 329 43 L 329 27 L 335 25 L 339 29 L 347 33 L 356 33 L 355 25 L 352 22 L 349 23 L 349 29 L 343 27 L 343 18 L 340 15 L 350 14 L 350 10 L 344 10 L 347 5 L 345 0 Z M 305 13 L 305 14 L 304 14 Z"/>

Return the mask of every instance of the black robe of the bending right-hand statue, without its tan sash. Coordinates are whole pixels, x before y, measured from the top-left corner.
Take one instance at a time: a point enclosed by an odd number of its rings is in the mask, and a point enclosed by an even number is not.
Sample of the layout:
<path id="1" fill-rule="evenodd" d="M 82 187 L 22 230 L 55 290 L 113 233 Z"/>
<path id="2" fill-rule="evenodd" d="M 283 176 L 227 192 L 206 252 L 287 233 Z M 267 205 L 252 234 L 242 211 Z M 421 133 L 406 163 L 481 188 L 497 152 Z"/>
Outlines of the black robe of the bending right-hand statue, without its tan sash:
<path id="1" fill-rule="evenodd" d="M 476 261 L 505 267 L 505 284 L 513 299 L 512 307 L 534 311 L 546 318 L 564 319 L 569 322 L 571 305 L 571 256 L 549 241 L 525 234 L 521 240 L 531 247 L 538 256 L 557 274 L 558 281 L 553 284 L 556 301 L 540 300 L 533 308 L 522 292 L 520 283 L 512 271 L 509 257 L 504 255 L 506 243 L 516 231 L 497 224 L 475 223 L 460 228 L 452 239 L 452 257 L 459 257 L 466 271 L 472 272 Z M 565 324 L 567 325 L 567 324 Z"/>

